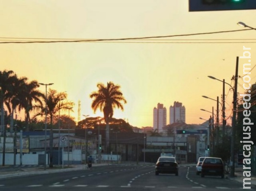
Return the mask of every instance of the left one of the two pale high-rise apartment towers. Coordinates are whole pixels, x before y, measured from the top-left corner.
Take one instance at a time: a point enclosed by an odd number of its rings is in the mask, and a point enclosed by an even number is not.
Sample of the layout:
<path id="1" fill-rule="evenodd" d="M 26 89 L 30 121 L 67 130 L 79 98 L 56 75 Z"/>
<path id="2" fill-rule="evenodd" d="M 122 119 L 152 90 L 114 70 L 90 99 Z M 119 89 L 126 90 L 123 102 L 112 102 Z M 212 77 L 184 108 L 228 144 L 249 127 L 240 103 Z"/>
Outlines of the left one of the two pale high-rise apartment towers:
<path id="1" fill-rule="evenodd" d="M 153 128 L 159 132 L 164 126 L 166 126 L 166 107 L 158 103 L 157 108 L 153 109 Z"/>

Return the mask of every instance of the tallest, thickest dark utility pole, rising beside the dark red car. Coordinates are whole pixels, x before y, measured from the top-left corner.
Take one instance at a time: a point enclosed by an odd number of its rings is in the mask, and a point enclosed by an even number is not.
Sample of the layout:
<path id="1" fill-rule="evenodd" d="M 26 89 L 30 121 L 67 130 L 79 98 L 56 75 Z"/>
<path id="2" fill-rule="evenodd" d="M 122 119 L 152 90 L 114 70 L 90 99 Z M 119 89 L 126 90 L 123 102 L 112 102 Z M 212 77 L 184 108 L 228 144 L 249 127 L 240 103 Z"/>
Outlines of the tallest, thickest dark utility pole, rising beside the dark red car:
<path id="1" fill-rule="evenodd" d="M 230 176 L 234 177 L 235 161 L 234 161 L 234 145 L 235 145 L 235 126 L 236 126 L 236 99 L 237 99 L 237 78 L 238 78 L 239 57 L 236 57 L 235 76 L 234 76 L 234 94 L 233 94 L 233 117 L 232 117 L 232 137 L 231 137 L 231 161 Z"/>

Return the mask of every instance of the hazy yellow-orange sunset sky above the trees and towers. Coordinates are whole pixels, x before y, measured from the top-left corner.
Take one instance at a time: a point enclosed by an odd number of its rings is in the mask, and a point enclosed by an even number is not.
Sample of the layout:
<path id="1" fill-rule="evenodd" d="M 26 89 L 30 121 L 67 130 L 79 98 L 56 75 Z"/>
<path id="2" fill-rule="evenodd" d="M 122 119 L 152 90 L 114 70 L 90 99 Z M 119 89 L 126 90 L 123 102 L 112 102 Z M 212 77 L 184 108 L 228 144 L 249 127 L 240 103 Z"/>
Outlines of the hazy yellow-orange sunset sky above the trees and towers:
<path id="1" fill-rule="evenodd" d="M 116 39 L 242 30 L 243 21 L 256 28 L 256 10 L 188 12 L 188 0 L 2 0 L 0 42 L 69 39 Z M 22 39 L 15 39 L 22 38 Z M 42 38 L 42 39 L 23 39 Z M 201 42 L 201 43 L 198 43 Z M 218 42 L 218 43 L 217 43 Z M 220 43 L 222 42 L 222 43 Z M 225 43 L 223 43 L 225 42 Z M 240 43 L 236 43 L 240 42 Z M 54 83 L 75 103 L 73 117 L 93 114 L 90 93 L 109 81 L 121 86 L 127 104 L 114 117 L 132 126 L 153 126 L 153 107 L 167 108 L 175 101 L 186 107 L 186 123 L 208 119 L 222 84 L 233 86 L 236 56 L 251 48 L 251 68 L 256 64 L 256 31 L 228 32 L 154 40 L 115 42 L 0 43 L 0 70 L 13 70 L 29 81 Z M 243 64 L 239 60 L 239 75 Z M 250 74 L 256 83 L 256 69 Z M 226 116 L 232 114 L 233 93 L 226 85 Z M 40 90 L 45 92 L 45 86 Z M 244 93 L 243 79 L 238 92 Z M 21 117 L 21 116 L 20 116 Z"/>

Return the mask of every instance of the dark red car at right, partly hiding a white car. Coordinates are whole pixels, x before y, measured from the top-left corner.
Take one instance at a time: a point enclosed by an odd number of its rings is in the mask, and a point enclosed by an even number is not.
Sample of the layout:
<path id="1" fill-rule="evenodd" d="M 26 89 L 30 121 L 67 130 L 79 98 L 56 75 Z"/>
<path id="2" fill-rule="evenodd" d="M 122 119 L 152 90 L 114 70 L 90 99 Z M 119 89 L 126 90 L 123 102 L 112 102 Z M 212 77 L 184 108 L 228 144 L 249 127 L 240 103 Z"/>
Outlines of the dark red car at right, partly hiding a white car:
<path id="1" fill-rule="evenodd" d="M 221 158 L 206 157 L 201 165 L 201 177 L 205 175 L 221 176 L 224 178 L 224 163 Z"/>

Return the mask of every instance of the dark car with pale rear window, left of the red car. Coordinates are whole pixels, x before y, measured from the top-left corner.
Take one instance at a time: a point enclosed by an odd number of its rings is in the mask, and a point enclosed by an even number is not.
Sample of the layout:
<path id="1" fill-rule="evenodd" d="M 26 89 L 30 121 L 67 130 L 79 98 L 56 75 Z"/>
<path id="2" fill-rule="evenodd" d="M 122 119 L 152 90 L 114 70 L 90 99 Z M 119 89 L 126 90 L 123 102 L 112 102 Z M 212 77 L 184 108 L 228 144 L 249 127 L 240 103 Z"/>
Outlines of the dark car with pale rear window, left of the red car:
<path id="1" fill-rule="evenodd" d="M 175 157 L 159 157 L 155 165 L 155 175 L 168 173 L 179 175 L 179 166 Z"/>

